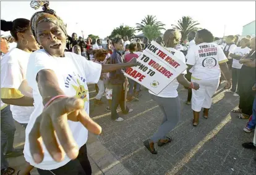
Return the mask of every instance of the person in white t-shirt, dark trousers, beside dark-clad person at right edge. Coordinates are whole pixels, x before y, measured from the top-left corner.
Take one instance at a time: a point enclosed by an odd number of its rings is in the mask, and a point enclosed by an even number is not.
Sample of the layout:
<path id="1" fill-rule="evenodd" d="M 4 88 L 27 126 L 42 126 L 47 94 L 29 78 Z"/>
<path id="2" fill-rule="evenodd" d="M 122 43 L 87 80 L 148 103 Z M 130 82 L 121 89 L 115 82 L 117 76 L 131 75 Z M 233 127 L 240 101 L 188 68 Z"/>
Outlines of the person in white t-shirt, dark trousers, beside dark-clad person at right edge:
<path id="1" fill-rule="evenodd" d="M 244 55 L 249 54 L 251 49 L 247 46 L 250 45 L 250 40 L 243 38 L 240 41 L 240 47 L 236 47 L 234 51 L 229 51 L 229 56 L 233 58 L 232 63 L 232 88 L 228 92 L 234 93 L 234 96 L 239 96 L 239 89 L 237 89 L 237 83 L 239 78 L 239 73 L 242 68 L 242 64 L 239 60 L 244 57 Z"/>

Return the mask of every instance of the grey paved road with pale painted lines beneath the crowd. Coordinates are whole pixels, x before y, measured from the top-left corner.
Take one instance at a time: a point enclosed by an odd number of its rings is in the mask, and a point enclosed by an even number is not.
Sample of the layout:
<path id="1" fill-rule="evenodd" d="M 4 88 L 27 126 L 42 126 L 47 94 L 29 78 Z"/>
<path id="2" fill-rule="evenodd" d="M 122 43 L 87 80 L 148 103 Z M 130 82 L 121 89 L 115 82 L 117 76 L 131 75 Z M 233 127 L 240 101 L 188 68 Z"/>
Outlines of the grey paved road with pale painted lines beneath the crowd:
<path id="1" fill-rule="evenodd" d="M 169 133 L 173 142 L 156 147 L 157 155 L 143 147 L 143 140 L 152 136 L 163 117 L 147 91 L 142 91 L 139 102 L 128 103 L 134 112 L 124 115 L 122 123 L 111 121 L 106 105 L 95 107 L 91 103 L 91 116 L 103 128 L 100 136 L 90 134 L 87 143 L 93 174 L 256 174 L 256 152 L 241 146 L 254 135 L 242 131 L 246 120 L 230 113 L 239 98 L 226 93 L 223 86 L 213 97 L 209 118 L 201 117 L 197 127 L 192 126 L 190 106 L 184 104 L 187 91 L 179 88 L 181 121 Z M 93 98 L 93 86 L 89 89 Z M 17 127 L 15 144 L 22 147 L 24 131 Z M 23 157 L 9 161 L 16 169 L 23 165 Z M 36 170 L 32 174 L 37 174 Z"/>

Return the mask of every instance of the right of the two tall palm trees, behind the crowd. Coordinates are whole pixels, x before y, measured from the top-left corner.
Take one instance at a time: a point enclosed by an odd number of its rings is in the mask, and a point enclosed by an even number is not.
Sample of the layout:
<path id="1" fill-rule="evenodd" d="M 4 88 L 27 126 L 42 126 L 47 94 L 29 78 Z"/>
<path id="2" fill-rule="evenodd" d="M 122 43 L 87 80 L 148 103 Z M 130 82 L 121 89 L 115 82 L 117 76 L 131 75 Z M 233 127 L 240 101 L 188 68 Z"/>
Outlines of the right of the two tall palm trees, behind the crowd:
<path id="1" fill-rule="evenodd" d="M 172 25 L 174 29 L 181 31 L 181 40 L 184 41 L 187 38 L 187 35 L 190 31 L 198 31 L 201 28 L 198 27 L 200 23 L 196 20 L 193 20 L 191 17 L 182 17 L 178 20 L 177 25 Z"/>

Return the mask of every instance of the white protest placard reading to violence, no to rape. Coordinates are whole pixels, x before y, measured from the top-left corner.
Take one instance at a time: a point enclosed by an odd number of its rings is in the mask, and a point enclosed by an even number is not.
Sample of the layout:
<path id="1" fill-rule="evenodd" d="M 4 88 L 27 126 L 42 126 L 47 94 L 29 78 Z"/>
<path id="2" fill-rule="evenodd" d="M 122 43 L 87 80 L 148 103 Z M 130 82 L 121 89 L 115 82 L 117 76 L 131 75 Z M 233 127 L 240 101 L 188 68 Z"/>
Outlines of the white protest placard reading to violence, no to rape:
<path id="1" fill-rule="evenodd" d="M 133 79 L 156 95 L 187 69 L 174 52 L 152 41 L 137 59 L 140 66 L 127 68 L 124 75 Z"/>

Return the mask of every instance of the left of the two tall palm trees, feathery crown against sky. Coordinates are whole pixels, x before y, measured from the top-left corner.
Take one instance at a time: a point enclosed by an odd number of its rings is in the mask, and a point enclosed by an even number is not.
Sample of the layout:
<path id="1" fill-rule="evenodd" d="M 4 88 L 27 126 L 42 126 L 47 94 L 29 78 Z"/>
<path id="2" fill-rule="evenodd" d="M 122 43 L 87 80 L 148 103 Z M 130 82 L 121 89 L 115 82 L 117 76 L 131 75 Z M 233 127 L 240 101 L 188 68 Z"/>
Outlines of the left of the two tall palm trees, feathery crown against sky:
<path id="1" fill-rule="evenodd" d="M 136 23 L 136 25 L 137 25 L 136 27 L 137 31 L 142 31 L 143 28 L 147 25 L 155 25 L 158 30 L 165 30 L 164 28 L 165 25 L 162 22 L 159 22 L 158 20 L 156 20 L 156 16 L 153 16 L 153 15 L 147 15 L 142 20 L 142 22 Z"/>

